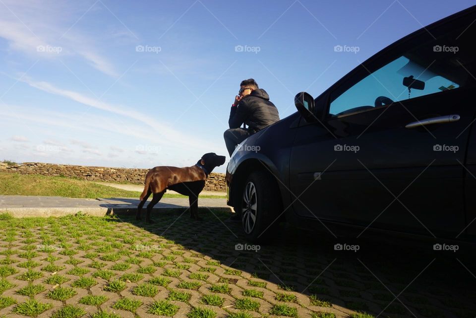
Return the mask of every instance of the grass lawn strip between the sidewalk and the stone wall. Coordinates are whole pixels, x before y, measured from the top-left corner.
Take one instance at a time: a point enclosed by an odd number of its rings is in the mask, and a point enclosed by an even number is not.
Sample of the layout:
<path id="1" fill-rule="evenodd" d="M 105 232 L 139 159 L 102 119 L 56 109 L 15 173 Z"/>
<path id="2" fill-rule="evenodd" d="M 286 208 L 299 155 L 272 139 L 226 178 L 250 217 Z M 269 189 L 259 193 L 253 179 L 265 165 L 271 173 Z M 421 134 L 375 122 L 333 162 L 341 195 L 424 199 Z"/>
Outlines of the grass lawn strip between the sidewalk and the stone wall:
<path id="1" fill-rule="evenodd" d="M 21 175 L 0 172 L 0 193 L 3 195 L 42 195 L 74 198 L 139 197 L 140 191 L 126 191 L 91 181 L 60 176 Z M 186 197 L 165 193 L 163 197 Z M 199 195 L 202 198 L 226 198 L 224 195 Z"/>

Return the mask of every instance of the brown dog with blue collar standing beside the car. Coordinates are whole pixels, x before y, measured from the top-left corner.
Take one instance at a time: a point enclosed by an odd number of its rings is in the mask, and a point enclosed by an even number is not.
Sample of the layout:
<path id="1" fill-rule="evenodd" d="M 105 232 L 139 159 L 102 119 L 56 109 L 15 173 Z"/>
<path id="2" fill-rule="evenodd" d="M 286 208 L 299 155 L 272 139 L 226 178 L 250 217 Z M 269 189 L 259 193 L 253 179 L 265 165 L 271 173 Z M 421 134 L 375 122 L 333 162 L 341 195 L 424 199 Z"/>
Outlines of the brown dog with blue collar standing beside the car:
<path id="1" fill-rule="evenodd" d="M 142 206 L 147 201 L 151 193 L 154 193 L 152 201 L 147 204 L 146 222 L 154 223 L 150 218 L 150 212 L 154 205 L 160 201 L 162 195 L 169 190 L 177 191 L 180 194 L 188 195 L 190 204 L 190 217 L 201 220 L 198 217 L 198 194 L 205 187 L 205 180 L 208 174 L 215 167 L 225 163 L 225 156 L 218 156 L 214 152 L 206 153 L 198 162 L 191 167 L 168 167 L 159 166 L 149 170 L 145 176 L 144 191 L 140 195 L 140 203 L 137 206 L 136 220 L 140 220 Z"/>

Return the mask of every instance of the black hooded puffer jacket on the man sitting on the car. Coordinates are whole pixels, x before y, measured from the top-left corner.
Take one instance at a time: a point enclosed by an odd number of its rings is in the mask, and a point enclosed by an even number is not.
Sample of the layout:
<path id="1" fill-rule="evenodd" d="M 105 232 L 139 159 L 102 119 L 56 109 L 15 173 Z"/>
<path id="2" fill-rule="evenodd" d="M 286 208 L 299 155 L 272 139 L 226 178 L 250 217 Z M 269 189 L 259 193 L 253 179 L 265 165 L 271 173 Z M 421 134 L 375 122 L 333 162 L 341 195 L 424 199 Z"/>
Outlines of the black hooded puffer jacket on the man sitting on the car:
<path id="1" fill-rule="evenodd" d="M 243 97 L 238 106 L 232 106 L 228 125 L 238 128 L 245 123 L 251 133 L 279 121 L 278 109 L 269 101 L 269 95 L 264 89 L 256 89 Z"/>

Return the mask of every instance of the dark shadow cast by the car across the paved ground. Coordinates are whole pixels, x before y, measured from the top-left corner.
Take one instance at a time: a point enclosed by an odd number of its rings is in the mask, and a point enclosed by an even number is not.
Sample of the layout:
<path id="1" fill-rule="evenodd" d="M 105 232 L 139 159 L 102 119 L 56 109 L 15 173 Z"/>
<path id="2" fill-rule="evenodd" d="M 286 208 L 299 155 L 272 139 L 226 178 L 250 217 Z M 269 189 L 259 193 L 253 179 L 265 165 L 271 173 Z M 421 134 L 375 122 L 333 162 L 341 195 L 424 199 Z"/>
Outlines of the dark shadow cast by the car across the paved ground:
<path id="1" fill-rule="evenodd" d="M 154 224 L 135 221 L 132 213 L 110 220 L 130 222 L 184 251 L 220 262 L 228 269 L 220 272 L 222 282 L 245 278 L 246 286 L 240 288 L 270 290 L 272 304 L 285 300 L 313 311 L 332 304 L 343 313 L 383 317 L 476 316 L 471 246 L 451 252 L 413 239 L 368 236 L 346 241 L 325 230 L 303 231 L 289 224 L 280 225 L 273 241 L 253 245 L 245 241 L 240 223 L 229 220 L 230 213 L 202 208 L 200 215 L 203 221 L 193 221 L 187 210 L 174 209 L 154 213 Z"/>

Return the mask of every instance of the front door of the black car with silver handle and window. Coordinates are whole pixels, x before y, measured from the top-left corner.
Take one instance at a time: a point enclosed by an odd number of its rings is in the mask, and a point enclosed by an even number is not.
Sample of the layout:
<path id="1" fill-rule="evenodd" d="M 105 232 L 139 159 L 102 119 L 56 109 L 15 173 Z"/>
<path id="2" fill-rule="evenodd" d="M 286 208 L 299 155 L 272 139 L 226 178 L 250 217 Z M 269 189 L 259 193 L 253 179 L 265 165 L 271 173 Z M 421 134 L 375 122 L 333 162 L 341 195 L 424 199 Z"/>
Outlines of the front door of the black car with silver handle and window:
<path id="1" fill-rule="evenodd" d="M 316 100 L 327 116 L 301 121 L 290 158 L 298 215 L 430 236 L 465 227 L 474 18 L 398 41 Z"/>

